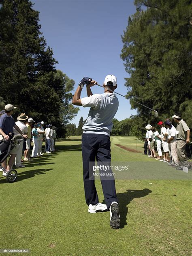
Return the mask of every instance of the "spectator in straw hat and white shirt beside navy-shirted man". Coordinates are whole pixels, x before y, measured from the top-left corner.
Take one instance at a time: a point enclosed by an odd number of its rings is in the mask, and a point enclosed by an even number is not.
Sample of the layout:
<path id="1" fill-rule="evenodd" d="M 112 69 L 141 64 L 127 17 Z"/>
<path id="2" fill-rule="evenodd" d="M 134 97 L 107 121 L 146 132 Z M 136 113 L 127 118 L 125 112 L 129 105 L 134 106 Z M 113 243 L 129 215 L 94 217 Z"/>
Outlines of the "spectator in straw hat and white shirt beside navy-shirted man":
<path id="1" fill-rule="evenodd" d="M 21 113 L 20 116 L 17 117 L 17 122 L 15 123 L 19 129 L 21 130 L 22 134 L 28 133 L 28 127 L 26 126 L 26 123 L 28 122 L 28 116 L 26 116 L 25 113 Z M 19 134 L 19 132 L 14 128 L 15 135 Z M 22 158 L 22 152 L 23 152 L 23 140 L 15 146 L 17 150 L 17 155 L 15 157 L 15 166 L 17 168 L 24 168 L 25 165 L 22 165 L 21 158 Z"/>

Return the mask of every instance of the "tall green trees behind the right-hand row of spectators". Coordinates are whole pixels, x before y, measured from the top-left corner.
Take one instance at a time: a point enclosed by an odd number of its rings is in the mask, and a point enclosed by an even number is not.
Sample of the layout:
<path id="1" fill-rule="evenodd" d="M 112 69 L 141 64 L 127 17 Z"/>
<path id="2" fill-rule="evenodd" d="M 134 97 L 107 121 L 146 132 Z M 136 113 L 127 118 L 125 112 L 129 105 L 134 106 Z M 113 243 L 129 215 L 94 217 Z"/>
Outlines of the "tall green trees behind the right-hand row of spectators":
<path id="1" fill-rule="evenodd" d="M 135 0 L 137 12 L 128 18 L 121 58 L 130 77 L 128 98 L 135 135 L 145 125 L 181 112 L 192 128 L 192 9 L 190 0 Z M 144 8 L 143 8 L 144 7 Z M 131 99 L 155 109 L 159 117 Z M 143 129 L 143 130 L 142 130 Z"/>

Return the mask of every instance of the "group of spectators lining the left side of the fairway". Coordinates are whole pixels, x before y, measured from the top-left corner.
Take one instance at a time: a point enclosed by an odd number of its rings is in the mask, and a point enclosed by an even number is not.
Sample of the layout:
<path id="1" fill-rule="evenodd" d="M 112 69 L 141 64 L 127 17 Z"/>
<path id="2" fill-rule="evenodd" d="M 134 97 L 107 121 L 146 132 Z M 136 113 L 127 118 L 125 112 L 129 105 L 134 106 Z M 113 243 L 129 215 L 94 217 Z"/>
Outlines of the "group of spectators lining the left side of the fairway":
<path id="1" fill-rule="evenodd" d="M 21 113 L 14 121 L 12 114 L 16 107 L 11 104 L 5 105 L 4 110 L 0 111 L 0 140 L 9 140 L 9 133 L 21 134 L 21 140 L 10 153 L 10 158 L 2 163 L 2 167 L 9 171 L 12 166 L 23 168 L 23 161 L 31 161 L 31 158 L 41 157 L 44 153 L 50 154 L 55 151 L 56 127 L 49 124 L 44 130 L 44 121 L 35 123 L 33 118 L 29 118 L 25 113 Z M 42 143 L 45 138 L 45 150 L 42 152 Z M 33 142 L 32 153 L 30 156 L 31 142 Z M 24 155 L 24 158 L 23 158 Z M 23 159 L 22 159 L 23 158 Z M 15 164 L 14 164 L 15 161 Z M 6 173 L 3 172 L 3 176 Z"/>

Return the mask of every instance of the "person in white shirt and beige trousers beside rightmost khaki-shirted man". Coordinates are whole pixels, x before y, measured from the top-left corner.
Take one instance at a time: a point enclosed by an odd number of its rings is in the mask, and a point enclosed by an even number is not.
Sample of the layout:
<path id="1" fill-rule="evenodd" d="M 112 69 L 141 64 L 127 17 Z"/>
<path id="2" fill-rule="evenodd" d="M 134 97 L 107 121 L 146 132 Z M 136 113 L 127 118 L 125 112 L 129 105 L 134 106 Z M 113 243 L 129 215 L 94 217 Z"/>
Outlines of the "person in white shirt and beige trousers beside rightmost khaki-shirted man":
<path id="1" fill-rule="evenodd" d="M 167 125 L 168 143 L 171 148 L 172 162 L 169 163 L 170 166 L 178 167 L 179 159 L 177 156 L 177 146 L 176 146 L 176 128 L 172 125 L 171 120 L 166 120 L 165 125 Z"/>

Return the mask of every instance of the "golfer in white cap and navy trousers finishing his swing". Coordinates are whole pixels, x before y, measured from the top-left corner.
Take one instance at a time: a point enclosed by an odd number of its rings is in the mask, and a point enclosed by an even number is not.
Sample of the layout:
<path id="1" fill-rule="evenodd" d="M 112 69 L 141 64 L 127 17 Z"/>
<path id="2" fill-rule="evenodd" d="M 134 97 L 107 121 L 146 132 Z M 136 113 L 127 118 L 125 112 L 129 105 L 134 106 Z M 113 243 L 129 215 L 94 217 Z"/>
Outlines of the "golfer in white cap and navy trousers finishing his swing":
<path id="1" fill-rule="evenodd" d="M 87 96 L 81 98 L 83 85 L 87 85 Z M 83 107 L 90 107 L 87 120 L 83 125 L 82 156 L 83 156 L 83 181 L 85 200 L 89 213 L 97 211 L 110 211 L 111 228 L 120 227 L 119 205 L 115 189 L 114 178 L 101 177 L 102 190 L 106 204 L 99 203 L 94 179 L 90 179 L 90 165 L 97 162 L 111 163 L 110 132 L 113 127 L 113 118 L 118 109 L 118 99 L 111 92 L 117 88 L 117 79 L 114 75 L 107 75 L 103 87 L 105 93 L 92 94 L 91 87 L 97 84 L 95 80 L 84 77 L 74 96 L 72 103 Z M 91 164 L 90 164 L 91 163 Z M 101 170 L 100 170 L 101 172 Z"/>

